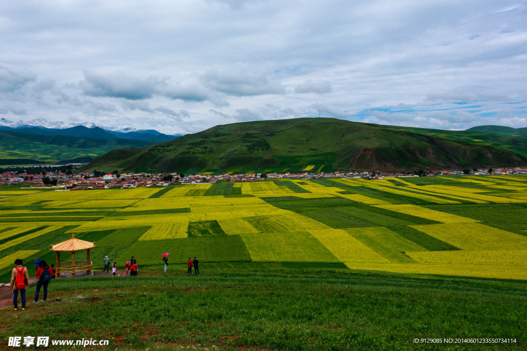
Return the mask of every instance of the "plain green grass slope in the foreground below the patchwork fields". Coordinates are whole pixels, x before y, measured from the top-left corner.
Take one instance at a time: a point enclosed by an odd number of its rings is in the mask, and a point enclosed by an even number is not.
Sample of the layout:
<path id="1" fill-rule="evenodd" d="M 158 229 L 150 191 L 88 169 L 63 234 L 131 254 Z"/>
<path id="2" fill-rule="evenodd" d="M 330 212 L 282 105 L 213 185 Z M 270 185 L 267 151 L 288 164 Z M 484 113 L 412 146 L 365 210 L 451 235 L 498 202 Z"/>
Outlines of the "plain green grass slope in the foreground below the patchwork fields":
<path id="1" fill-rule="evenodd" d="M 339 269 L 211 273 L 206 265 L 196 276 L 171 268 L 178 272 L 52 280 L 48 302 L 38 305 L 33 285 L 27 310 L 0 308 L 0 348 L 27 335 L 110 339 L 108 349 L 120 350 L 520 350 L 527 341 L 527 282 Z"/>

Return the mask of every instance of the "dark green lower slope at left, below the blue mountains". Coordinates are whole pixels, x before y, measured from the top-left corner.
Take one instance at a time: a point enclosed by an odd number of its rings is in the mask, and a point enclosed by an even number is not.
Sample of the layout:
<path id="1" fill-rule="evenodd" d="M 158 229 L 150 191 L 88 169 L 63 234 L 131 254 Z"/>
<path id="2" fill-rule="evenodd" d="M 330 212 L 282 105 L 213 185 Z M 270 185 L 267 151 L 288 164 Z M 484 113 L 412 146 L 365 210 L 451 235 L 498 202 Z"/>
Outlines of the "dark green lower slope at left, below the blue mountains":
<path id="1" fill-rule="evenodd" d="M 0 131 L 0 158 L 4 165 L 8 159 L 33 159 L 38 162 L 57 162 L 77 157 L 96 157 L 115 148 L 144 147 L 147 141 L 128 139 L 92 139 L 66 135 L 38 135 L 18 131 Z"/>

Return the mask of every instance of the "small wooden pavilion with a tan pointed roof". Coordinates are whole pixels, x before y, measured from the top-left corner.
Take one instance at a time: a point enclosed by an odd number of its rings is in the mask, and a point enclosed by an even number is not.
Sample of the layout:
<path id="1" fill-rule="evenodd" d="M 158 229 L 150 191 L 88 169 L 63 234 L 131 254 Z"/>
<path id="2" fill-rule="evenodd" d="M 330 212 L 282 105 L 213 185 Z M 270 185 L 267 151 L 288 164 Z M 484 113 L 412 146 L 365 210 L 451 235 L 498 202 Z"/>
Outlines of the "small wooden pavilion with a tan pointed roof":
<path id="1" fill-rule="evenodd" d="M 90 249 L 94 248 L 95 245 L 84 240 L 75 239 L 75 234 L 71 235 L 71 239 L 66 240 L 60 244 L 53 245 L 50 250 L 57 253 L 57 265 L 56 274 L 57 278 L 61 274 L 71 273 L 71 276 L 75 278 L 75 273 L 86 272 L 91 274 L 92 262 L 90 260 Z M 75 252 L 86 250 L 85 261 L 75 261 Z M 61 252 L 71 252 L 71 261 L 61 262 Z"/>

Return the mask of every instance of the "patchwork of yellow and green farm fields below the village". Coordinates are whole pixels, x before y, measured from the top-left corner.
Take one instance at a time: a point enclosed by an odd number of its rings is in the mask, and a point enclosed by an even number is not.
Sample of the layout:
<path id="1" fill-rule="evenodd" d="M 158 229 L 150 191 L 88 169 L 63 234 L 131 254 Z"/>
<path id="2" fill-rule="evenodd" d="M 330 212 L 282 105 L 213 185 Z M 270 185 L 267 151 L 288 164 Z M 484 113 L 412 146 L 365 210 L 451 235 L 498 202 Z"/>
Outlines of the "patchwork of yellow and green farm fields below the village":
<path id="1" fill-rule="evenodd" d="M 75 233 L 92 261 L 337 267 L 527 279 L 527 177 L 266 180 L 166 188 L 0 189 L 0 282 L 13 260 L 54 262 Z M 66 256 L 66 255 L 64 255 Z M 64 257 L 67 259 L 67 257 Z M 76 259 L 84 259 L 77 253 Z"/>

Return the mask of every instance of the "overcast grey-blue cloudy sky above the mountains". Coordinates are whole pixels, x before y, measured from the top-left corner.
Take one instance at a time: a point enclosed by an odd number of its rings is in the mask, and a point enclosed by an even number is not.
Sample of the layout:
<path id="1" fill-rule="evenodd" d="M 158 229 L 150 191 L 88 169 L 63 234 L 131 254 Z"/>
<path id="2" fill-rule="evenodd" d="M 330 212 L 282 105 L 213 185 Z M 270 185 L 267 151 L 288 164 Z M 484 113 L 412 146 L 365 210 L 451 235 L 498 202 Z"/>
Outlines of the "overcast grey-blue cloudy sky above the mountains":
<path id="1" fill-rule="evenodd" d="M 527 127 L 527 2 L 0 2 L 0 118 Z"/>

